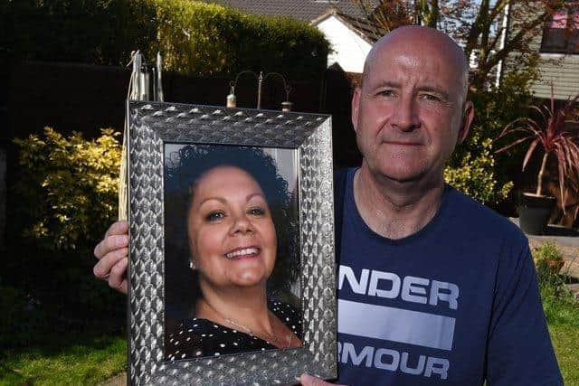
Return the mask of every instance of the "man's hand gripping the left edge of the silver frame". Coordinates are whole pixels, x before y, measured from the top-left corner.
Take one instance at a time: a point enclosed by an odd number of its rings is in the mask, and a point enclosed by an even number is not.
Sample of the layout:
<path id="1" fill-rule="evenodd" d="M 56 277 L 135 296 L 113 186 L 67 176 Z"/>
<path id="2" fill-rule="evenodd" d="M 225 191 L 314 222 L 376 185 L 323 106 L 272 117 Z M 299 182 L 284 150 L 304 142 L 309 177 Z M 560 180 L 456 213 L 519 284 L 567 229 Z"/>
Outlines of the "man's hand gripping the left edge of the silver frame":
<path id="1" fill-rule="evenodd" d="M 109 282 L 109 287 L 127 293 L 128 222 L 113 223 L 105 238 L 94 249 L 99 262 L 92 268 L 97 278 Z"/>

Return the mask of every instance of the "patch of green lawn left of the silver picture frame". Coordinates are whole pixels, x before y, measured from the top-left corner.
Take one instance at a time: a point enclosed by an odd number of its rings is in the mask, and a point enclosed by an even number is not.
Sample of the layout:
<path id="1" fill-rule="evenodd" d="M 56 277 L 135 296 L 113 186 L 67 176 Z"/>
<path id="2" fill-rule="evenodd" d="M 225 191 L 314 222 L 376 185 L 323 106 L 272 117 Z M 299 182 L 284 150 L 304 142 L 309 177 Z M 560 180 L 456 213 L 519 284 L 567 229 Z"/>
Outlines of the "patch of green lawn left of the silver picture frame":
<path id="1" fill-rule="evenodd" d="M 124 371 L 126 357 L 125 337 L 67 336 L 41 348 L 5 353 L 0 385 L 97 384 Z"/>

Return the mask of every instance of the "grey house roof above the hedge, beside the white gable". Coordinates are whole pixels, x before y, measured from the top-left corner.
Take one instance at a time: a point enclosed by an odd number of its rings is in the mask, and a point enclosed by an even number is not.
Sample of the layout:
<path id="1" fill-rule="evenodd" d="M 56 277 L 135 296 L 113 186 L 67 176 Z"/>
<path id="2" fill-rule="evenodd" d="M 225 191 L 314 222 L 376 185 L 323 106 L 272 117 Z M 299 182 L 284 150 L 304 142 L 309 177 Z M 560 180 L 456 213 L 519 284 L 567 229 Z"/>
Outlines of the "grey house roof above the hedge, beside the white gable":
<path id="1" fill-rule="evenodd" d="M 365 14 L 352 0 L 208 0 L 208 2 L 230 6 L 248 14 L 289 16 L 311 23 L 329 10 L 337 10 L 346 17 L 364 19 Z M 378 4 L 378 0 L 369 3 Z"/>

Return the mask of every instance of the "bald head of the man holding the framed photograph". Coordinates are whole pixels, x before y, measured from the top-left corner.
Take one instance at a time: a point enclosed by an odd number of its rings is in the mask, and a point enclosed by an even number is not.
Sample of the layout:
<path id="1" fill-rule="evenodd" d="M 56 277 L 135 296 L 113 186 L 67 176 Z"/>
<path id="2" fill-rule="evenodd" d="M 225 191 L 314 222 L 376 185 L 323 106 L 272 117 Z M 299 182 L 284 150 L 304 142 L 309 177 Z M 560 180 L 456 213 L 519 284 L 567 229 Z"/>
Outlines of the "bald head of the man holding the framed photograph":
<path id="1" fill-rule="evenodd" d="M 364 163 L 398 181 L 438 182 L 474 116 L 460 47 L 432 28 L 407 26 L 375 43 L 352 99 Z"/>

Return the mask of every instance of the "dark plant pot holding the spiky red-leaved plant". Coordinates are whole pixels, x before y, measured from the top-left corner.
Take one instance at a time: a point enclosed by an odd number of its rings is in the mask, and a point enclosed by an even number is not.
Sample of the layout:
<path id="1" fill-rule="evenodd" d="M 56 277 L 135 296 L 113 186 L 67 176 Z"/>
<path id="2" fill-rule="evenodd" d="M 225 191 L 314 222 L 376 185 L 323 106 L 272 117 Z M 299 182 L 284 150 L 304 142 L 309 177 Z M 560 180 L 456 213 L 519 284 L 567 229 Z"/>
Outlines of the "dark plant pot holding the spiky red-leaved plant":
<path id="1" fill-rule="evenodd" d="M 555 204 L 555 197 L 521 194 L 518 204 L 518 225 L 521 230 L 527 234 L 544 234 Z"/>

